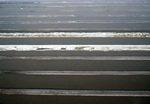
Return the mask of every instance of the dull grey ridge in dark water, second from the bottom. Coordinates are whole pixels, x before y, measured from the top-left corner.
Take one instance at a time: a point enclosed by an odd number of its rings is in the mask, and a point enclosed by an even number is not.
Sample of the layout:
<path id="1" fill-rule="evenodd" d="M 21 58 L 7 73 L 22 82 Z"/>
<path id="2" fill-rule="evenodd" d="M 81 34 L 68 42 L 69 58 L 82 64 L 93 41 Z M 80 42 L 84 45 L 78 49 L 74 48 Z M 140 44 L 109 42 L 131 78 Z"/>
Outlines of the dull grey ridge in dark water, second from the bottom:
<path id="1" fill-rule="evenodd" d="M 150 71 L 0 71 L 0 74 L 16 74 L 16 75 L 100 75 L 100 76 L 116 76 L 116 75 L 150 75 Z"/>

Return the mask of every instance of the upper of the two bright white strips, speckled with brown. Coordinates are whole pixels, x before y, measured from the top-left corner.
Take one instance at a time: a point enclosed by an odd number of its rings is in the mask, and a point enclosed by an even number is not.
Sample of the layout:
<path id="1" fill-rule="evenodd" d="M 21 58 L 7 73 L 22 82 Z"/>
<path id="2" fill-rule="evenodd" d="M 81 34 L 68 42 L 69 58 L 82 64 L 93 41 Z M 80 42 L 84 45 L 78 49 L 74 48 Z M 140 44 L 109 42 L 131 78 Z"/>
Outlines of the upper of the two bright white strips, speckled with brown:
<path id="1" fill-rule="evenodd" d="M 27 37 L 150 37 L 150 33 L 115 33 L 115 32 L 92 32 L 92 33 L 0 33 L 0 38 L 27 38 Z"/>

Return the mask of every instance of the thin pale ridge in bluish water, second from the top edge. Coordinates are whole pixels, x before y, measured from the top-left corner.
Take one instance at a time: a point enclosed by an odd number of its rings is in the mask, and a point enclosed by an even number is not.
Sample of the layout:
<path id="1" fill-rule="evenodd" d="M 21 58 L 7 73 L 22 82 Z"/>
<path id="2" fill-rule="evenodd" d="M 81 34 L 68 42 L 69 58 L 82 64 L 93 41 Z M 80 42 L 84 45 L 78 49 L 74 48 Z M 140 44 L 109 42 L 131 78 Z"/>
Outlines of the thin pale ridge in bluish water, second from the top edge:
<path id="1" fill-rule="evenodd" d="M 77 8 L 77 7 L 150 7 L 150 5 L 53 5 L 53 6 L 0 6 L 0 8 Z"/>

